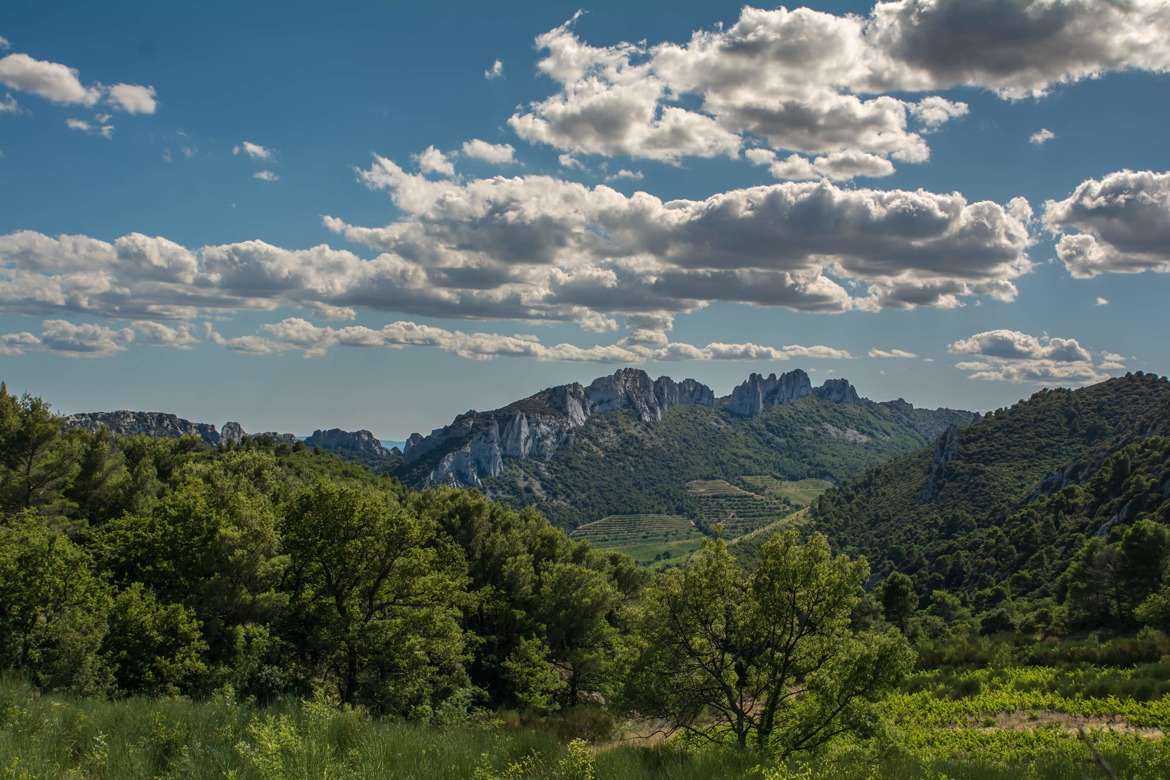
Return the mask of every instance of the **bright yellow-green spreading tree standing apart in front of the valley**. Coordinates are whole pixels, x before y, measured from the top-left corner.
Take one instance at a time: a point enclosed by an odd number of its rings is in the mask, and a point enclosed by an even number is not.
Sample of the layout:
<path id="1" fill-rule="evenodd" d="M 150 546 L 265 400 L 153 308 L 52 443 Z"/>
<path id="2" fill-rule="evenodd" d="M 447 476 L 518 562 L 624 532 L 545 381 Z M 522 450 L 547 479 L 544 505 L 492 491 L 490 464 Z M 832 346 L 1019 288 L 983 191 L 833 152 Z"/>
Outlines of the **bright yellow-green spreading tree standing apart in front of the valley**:
<path id="1" fill-rule="evenodd" d="M 739 748 L 812 750 L 876 723 L 872 703 L 909 672 L 900 633 L 856 634 L 865 559 L 814 534 L 777 534 L 745 577 L 722 540 L 645 591 L 627 706 Z M 717 725 L 711 725 L 717 724 Z"/>

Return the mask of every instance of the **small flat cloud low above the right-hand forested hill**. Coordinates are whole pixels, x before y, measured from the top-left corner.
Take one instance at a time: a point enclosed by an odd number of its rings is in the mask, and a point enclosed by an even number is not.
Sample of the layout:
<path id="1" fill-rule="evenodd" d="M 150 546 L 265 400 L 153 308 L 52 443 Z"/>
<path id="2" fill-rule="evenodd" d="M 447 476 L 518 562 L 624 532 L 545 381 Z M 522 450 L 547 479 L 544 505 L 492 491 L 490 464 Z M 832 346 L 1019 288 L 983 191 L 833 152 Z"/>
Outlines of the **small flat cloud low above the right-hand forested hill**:
<path id="1" fill-rule="evenodd" d="M 1106 352 L 1100 365 L 1076 339 L 1031 336 L 1020 331 L 993 330 L 976 333 L 951 344 L 954 354 L 975 356 L 977 360 L 956 364 L 971 379 L 1086 385 L 1108 378 L 1106 371 L 1124 368 L 1121 356 Z"/>

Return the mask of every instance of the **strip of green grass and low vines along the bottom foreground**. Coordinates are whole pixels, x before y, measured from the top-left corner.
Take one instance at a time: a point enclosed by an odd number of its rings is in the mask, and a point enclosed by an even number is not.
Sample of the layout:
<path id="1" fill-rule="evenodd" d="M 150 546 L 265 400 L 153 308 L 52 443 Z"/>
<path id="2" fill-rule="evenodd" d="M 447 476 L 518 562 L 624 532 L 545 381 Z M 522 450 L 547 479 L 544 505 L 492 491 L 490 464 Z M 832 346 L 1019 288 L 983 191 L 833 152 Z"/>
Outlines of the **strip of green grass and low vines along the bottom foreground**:
<path id="1" fill-rule="evenodd" d="M 1110 672 L 1114 674 L 1114 672 Z M 584 723 L 515 719 L 420 726 L 371 722 L 317 699 L 255 707 L 37 696 L 0 683 L 0 778 L 1106 778 L 1083 726 L 1119 778 L 1170 776 L 1170 698 L 1062 696 L 1067 681 L 1034 668 L 924 672 L 889 702 L 883 734 L 777 765 L 769 757 L 620 741 L 572 740 Z M 1079 681 L 1083 682 L 1083 681 Z"/>

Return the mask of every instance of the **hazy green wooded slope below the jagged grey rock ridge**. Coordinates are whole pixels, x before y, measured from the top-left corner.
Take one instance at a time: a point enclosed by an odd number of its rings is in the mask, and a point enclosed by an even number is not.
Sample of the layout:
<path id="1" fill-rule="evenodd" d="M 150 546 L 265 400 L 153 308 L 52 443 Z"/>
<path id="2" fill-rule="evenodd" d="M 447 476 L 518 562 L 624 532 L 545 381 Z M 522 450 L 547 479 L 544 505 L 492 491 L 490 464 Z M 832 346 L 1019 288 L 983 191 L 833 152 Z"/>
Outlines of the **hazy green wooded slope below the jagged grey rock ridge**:
<path id="1" fill-rule="evenodd" d="M 849 406 L 814 396 L 752 417 L 675 406 L 653 427 L 628 410 L 611 412 L 591 417 L 573 432 L 574 444 L 548 460 L 507 458 L 484 488 L 498 501 L 536 506 L 562 527 L 633 513 L 698 522 L 703 505 L 687 490 L 688 482 L 737 484 L 752 476 L 835 483 L 932 442 L 948 424 L 970 420 L 966 412 L 915 409 L 900 401 Z M 766 488 L 752 492 L 777 501 Z"/>

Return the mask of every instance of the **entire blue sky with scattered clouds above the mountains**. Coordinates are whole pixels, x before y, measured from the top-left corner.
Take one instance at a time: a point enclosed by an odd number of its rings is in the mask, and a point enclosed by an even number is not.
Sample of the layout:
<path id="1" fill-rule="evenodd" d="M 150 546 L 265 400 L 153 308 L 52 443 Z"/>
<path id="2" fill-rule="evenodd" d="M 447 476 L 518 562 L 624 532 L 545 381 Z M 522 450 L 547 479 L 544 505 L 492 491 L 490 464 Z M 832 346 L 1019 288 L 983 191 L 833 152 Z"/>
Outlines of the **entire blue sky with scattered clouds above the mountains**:
<path id="1" fill-rule="evenodd" d="M 624 365 L 1170 364 L 1170 2 L 0 11 L 0 378 L 405 439 Z"/>

